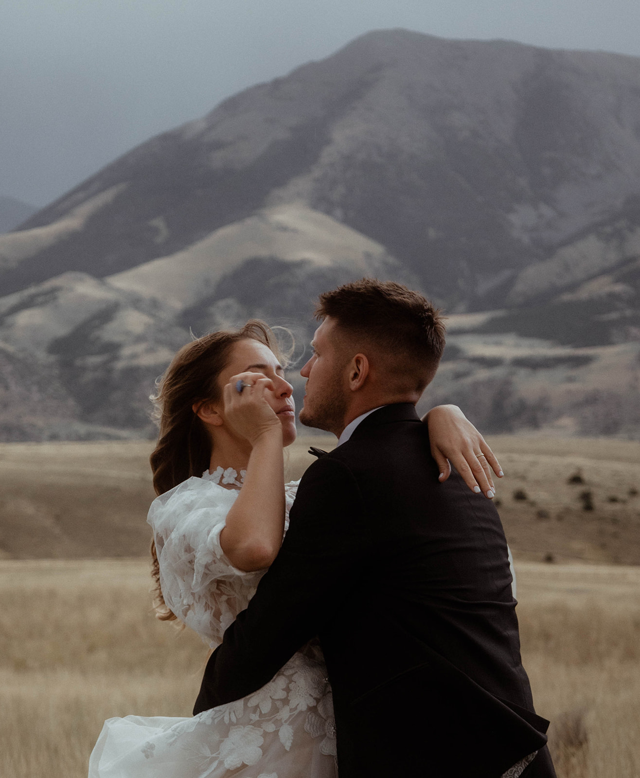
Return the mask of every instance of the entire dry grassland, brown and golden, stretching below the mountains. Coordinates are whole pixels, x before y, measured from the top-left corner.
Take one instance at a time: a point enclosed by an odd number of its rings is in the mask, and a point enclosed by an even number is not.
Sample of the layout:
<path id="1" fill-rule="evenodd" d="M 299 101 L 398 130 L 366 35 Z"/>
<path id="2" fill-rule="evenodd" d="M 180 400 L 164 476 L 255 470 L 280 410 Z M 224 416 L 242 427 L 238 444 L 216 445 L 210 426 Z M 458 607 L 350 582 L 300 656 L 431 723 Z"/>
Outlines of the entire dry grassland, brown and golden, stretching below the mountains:
<path id="1" fill-rule="evenodd" d="M 291 477 L 310 442 L 329 443 L 301 441 Z M 640 778 L 640 443 L 489 442 L 558 775 Z M 0 446 L 2 778 L 85 778 L 105 718 L 191 709 L 206 647 L 153 618 L 140 559 L 150 448 Z"/>

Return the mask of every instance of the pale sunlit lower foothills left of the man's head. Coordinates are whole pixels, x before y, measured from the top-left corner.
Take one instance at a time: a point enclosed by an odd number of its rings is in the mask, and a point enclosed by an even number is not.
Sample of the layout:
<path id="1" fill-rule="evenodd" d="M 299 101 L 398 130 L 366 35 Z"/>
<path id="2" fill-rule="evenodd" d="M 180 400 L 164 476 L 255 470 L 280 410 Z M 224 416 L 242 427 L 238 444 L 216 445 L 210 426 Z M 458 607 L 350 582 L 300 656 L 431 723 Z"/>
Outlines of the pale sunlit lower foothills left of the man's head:
<path id="1" fill-rule="evenodd" d="M 280 207 L 220 228 L 190 251 L 106 279 L 69 271 L 5 295 L 0 346 L 22 361 L 21 375 L 49 376 L 50 392 L 68 403 L 62 415 L 41 414 L 36 422 L 31 395 L 11 384 L 4 403 L 0 394 L 0 436 L 149 433 L 153 380 L 190 331 L 260 316 L 289 325 L 304 343 L 301 322 L 311 320 L 323 289 L 375 274 L 403 277 L 374 241 L 321 213 Z"/>

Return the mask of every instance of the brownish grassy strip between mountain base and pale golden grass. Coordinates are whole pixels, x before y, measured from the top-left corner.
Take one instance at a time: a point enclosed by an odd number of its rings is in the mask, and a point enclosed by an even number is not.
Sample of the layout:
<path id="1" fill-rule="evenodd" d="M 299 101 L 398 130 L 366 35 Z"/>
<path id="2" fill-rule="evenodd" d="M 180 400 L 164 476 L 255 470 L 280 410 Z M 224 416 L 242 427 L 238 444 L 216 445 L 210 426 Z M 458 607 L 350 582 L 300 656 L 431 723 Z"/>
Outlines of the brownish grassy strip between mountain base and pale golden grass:
<path id="1" fill-rule="evenodd" d="M 313 461 L 302 437 L 290 478 Z M 518 559 L 640 564 L 640 443 L 496 436 L 505 469 L 496 503 Z M 153 443 L 0 444 L 0 556 L 92 559 L 146 555 Z"/>

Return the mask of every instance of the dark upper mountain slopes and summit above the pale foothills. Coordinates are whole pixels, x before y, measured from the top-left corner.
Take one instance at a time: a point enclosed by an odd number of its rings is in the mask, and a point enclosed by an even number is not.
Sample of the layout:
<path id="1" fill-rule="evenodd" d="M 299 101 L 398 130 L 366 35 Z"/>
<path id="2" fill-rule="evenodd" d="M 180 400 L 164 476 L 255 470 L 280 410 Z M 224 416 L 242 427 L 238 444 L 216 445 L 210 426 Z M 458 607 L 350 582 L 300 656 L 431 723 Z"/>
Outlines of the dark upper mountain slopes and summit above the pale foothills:
<path id="1" fill-rule="evenodd" d="M 300 202 L 378 241 L 448 306 L 494 307 L 638 195 L 638 82 L 640 59 L 622 55 L 369 33 L 38 212 L 19 249 L 0 244 L 2 288 L 111 275 Z"/>

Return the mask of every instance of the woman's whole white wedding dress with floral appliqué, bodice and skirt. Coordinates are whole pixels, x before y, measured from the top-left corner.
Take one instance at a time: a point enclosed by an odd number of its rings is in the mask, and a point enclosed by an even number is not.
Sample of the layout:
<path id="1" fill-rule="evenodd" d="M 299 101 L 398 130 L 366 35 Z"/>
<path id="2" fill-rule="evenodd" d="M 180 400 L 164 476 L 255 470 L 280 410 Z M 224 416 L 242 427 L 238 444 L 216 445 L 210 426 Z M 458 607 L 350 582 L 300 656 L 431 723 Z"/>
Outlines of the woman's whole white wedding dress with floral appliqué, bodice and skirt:
<path id="1" fill-rule="evenodd" d="M 244 473 L 241 473 L 244 475 Z M 237 497 L 234 470 L 206 471 L 149 509 L 164 600 L 216 647 L 264 570 L 234 568 L 220 532 Z M 287 519 L 297 482 L 286 486 Z M 89 778 L 336 778 L 336 728 L 322 650 L 309 643 L 267 685 L 193 718 L 108 719 Z"/>

